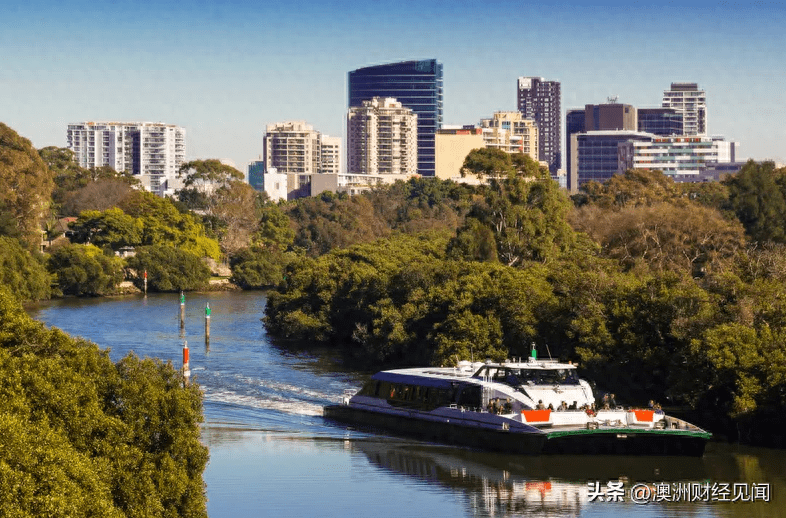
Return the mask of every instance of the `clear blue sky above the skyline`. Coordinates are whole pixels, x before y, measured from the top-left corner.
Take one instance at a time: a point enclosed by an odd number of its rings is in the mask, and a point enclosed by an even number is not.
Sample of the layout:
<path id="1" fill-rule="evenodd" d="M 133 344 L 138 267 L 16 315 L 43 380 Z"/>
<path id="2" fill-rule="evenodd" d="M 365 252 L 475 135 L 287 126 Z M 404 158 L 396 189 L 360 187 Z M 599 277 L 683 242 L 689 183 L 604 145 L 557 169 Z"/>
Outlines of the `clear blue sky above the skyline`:
<path id="1" fill-rule="evenodd" d="M 436 58 L 446 124 L 514 110 L 519 76 L 561 81 L 563 112 L 689 81 L 711 134 L 786 162 L 784 27 L 784 2 L 33 0 L 0 15 L 0 121 L 38 148 L 70 122 L 178 124 L 189 159 L 245 172 L 266 124 L 344 137 L 350 70 Z"/>

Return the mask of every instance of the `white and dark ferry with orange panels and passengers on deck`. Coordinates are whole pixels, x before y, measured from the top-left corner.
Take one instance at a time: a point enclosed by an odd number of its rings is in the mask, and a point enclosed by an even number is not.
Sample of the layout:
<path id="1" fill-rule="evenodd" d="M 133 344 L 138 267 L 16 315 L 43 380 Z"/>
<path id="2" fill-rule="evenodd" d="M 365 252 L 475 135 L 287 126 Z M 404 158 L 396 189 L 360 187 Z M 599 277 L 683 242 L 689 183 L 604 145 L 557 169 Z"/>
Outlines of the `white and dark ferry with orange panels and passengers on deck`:
<path id="1" fill-rule="evenodd" d="M 652 408 L 596 405 L 576 366 L 538 359 L 382 371 L 326 418 L 440 443 L 521 454 L 701 456 L 711 434 Z"/>

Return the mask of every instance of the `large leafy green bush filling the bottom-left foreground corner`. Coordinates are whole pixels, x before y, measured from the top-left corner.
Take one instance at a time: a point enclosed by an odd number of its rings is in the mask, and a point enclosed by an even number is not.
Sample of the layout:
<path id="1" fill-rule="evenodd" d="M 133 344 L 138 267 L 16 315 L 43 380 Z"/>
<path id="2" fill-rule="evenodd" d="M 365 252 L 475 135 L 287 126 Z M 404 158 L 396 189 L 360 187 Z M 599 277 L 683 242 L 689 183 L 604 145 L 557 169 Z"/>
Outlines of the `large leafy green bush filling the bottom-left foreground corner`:
<path id="1" fill-rule="evenodd" d="M 202 396 L 171 365 L 114 365 L 0 286 L 0 395 L 0 515 L 207 516 Z"/>

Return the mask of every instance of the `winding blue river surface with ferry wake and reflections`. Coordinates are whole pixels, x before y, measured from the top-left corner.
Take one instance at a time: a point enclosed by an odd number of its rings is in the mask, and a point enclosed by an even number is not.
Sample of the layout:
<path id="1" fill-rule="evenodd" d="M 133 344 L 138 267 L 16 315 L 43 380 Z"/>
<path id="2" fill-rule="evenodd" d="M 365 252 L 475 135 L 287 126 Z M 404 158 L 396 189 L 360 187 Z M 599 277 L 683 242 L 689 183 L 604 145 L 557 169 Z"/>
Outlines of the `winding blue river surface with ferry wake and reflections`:
<path id="1" fill-rule="evenodd" d="M 322 407 L 367 374 L 328 351 L 276 344 L 260 320 L 264 306 L 260 292 L 187 294 L 183 328 L 172 294 L 59 300 L 28 312 L 109 348 L 113 360 L 133 352 L 179 367 L 188 342 L 205 394 L 210 518 L 786 518 L 782 450 L 711 443 L 700 459 L 528 457 L 325 421 Z"/>

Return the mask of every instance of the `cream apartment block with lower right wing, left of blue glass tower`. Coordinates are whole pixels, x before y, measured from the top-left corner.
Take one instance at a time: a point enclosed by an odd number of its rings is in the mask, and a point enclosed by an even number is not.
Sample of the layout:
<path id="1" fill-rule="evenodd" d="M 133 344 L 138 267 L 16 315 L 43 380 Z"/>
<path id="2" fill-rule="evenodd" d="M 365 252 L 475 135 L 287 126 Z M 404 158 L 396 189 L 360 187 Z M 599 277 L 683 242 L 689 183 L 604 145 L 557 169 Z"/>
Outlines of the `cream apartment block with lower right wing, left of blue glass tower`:
<path id="1" fill-rule="evenodd" d="M 266 169 L 274 167 L 281 174 L 338 173 L 340 139 L 322 135 L 306 121 L 268 124 L 263 141 Z"/>

